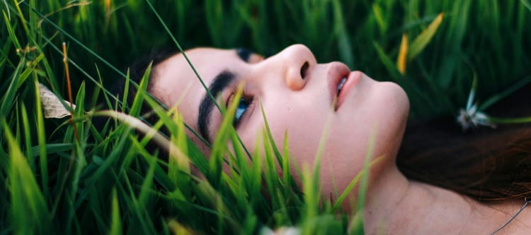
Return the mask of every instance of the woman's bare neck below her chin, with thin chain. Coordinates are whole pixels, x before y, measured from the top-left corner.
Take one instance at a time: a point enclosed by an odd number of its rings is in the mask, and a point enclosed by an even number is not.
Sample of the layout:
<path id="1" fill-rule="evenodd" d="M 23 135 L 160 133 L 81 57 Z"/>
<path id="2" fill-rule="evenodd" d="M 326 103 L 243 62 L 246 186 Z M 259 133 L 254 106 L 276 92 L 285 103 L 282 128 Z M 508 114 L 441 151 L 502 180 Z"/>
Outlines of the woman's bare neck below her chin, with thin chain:
<path id="1" fill-rule="evenodd" d="M 523 204 L 478 203 L 443 188 L 409 181 L 395 166 L 383 172 L 367 191 L 366 234 L 490 234 Z M 526 231 L 531 213 L 523 214 L 510 227 Z"/>

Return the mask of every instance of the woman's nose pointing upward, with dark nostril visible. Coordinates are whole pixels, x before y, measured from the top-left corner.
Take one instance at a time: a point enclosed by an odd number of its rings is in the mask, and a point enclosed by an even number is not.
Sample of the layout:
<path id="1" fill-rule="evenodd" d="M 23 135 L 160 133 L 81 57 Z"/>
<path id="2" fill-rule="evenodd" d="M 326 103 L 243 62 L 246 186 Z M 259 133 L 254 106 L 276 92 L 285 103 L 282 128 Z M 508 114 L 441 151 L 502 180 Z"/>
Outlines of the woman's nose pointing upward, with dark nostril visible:
<path id="1" fill-rule="evenodd" d="M 283 68 L 281 70 L 283 78 L 288 88 L 291 90 L 301 90 L 306 85 L 309 73 L 316 64 L 314 54 L 308 47 L 302 44 L 295 44 L 282 50 L 275 55 L 278 63 Z"/>

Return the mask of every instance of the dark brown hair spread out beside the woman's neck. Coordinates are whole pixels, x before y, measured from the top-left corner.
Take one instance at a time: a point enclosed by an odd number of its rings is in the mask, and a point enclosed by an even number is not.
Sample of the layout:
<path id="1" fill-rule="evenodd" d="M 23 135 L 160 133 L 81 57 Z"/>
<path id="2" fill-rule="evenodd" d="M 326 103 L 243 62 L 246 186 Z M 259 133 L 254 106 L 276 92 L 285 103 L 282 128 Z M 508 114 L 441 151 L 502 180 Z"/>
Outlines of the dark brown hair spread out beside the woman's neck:
<path id="1" fill-rule="evenodd" d="M 527 85 L 488 113 L 531 116 L 530 92 Z M 451 117 L 409 123 L 397 165 L 409 179 L 480 201 L 531 197 L 531 125 L 465 132 Z"/>

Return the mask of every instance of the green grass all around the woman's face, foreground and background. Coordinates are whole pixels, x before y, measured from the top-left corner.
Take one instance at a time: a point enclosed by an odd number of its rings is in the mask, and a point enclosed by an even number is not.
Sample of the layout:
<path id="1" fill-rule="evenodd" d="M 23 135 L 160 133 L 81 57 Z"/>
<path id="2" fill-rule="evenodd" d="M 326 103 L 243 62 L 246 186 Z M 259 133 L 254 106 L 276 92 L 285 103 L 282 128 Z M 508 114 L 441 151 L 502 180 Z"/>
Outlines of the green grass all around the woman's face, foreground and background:
<path id="1" fill-rule="evenodd" d="M 179 116 L 156 109 L 145 92 L 132 104 L 110 96 L 127 65 L 154 47 L 269 55 L 306 44 L 319 62 L 343 61 L 402 85 L 412 119 L 456 116 L 474 78 L 485 100 L 531 74 L 529 0 L 3 0 L 0 8 L 0 234 L 362 234 L 360 214 L 321 202 L 312 169 L 302 171 L 302 189 L 294 183 L 287 146 L 267 130 L 265 156 L 249 166 L 234 145 L 227 175 L 225 143 L 237 143 L 230 128 L 205 157 Z M 73 119 L 45 119 L 39 83 L 76 104 Z M 143 102 L 161 117 L 147 130 L 168 127 L 171 135 L 159 137 L 177 157 L 158 159 L 145 147 L 151 135 L 131 127 Z M 103 109 L 130 116 L 97 130 L 93 115 Z M 205 179 L 190 174 L 189 162 Z"/>

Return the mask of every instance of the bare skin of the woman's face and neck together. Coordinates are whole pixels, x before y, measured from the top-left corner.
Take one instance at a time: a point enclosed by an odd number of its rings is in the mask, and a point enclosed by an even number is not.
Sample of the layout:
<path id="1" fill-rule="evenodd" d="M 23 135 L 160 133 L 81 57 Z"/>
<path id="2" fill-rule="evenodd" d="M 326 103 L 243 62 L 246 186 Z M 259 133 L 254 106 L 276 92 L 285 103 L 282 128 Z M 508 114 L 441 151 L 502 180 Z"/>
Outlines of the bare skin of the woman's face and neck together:
<path id="1" fill-rule="evenodd" d="M 267 59 L 245 50 L 198 48 L 185 53 L 218 103 L 228 105 L 243 85 L 234 126 L 251 150 L 264 123 L 260 105 L 275 142 L 282 143 L 287 132 L 292 165 L 313 167 L 319 140 L 328 127 L 320 183 L 332 200 L 362 169 L 374 135 L 369 157 L 379 161 L 370 169 L 364 215 L 367 234 L 490 234 L 508 222 L 529 194 L 480 203 L 474 200 L 480 197 L 472 199 L 467 195 L 474 193 L 466 190 L 463 195 L 406 178 L 396 167 L 409 113 L 404 90 L 350 71 L 339 62 L 317 64 L 307 47 L 292 45 Z M 142 71 L 143 66 L 137 73 Z M 185 123 L 202 138 L 214 139 L 222 114 L 182 54 L 155 59 L 148 91 L 167 107 L 177 105 Z M 209 152 L 199 138 L 189 136 L 202 152 Z M 448 188 L 458 187 L 450 183 Z M 355 195 L 350 193 L 350 200 Z M 350 205 L 343 207 L 349 210 Z M 531 212 L 523 210 L 502 232 L 529 234 Z"/>

